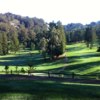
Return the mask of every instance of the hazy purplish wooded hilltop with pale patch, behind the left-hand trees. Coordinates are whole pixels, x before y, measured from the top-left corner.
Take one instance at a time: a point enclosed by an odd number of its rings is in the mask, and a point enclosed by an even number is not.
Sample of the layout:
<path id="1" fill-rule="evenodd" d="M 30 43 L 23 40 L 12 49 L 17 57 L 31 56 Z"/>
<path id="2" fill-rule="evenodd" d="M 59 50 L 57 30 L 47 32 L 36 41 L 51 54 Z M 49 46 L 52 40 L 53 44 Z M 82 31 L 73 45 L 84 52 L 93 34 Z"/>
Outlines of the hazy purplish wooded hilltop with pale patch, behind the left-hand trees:
<path id="1" fill-rule="evenodd" d="M 0 14 L 0 22 L 9 23 L 15 27 L 23 25 L 25 28 L 34 29 L 35 32 L 47 29 L 46 22 L 43 19 L 36 17 L 30 18 L 28 16 L 23 17 L 12 13 Z"/>

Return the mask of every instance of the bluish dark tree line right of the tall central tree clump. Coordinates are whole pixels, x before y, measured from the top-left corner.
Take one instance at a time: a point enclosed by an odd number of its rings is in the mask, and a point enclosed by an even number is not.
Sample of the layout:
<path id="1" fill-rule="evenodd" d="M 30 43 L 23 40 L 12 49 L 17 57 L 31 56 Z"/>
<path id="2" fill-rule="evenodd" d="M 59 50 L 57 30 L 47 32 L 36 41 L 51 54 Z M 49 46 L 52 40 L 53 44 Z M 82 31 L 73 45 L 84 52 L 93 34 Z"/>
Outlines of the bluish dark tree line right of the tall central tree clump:
<path id="1" fill-rule="evenodd" d="M 100 52 L 100 22 L 91 22 L 88 25 L 71 23 L 64 26 L 67 43 L 85 42 L 86 46 L 92 49 L 97 46 Z"/>

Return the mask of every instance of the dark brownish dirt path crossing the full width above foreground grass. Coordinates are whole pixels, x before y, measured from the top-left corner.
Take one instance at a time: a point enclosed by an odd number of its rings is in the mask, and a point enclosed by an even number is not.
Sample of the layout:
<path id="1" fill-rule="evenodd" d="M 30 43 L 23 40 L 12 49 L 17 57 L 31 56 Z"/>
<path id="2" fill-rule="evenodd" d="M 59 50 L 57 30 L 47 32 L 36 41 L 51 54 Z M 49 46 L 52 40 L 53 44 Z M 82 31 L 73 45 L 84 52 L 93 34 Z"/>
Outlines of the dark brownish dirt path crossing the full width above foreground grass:
<path id="1" fill-rule="evenodd" d="M 28 76 L 28 75 L 0 75 L 1 80 L 36 80 L 36 81 L 54 81 L 54 82 L 72 82 L 86 84 L 100 84 L 96 79 L 72 79 L 47 76 Z"/>

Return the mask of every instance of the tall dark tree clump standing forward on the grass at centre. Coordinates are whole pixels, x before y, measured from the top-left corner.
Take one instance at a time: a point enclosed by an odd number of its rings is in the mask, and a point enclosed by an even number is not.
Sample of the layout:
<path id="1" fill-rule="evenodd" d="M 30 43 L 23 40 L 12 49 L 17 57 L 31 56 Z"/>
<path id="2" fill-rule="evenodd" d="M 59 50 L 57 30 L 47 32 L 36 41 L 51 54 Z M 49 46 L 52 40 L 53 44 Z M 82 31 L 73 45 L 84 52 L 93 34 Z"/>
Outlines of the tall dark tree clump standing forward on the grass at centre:
<path id="1" fill-rule="evenodd" d="M 66 39 L 63 26 L 60 22 L 49 24 L 48 54 L 52 59 L 65 52 Z"/>

